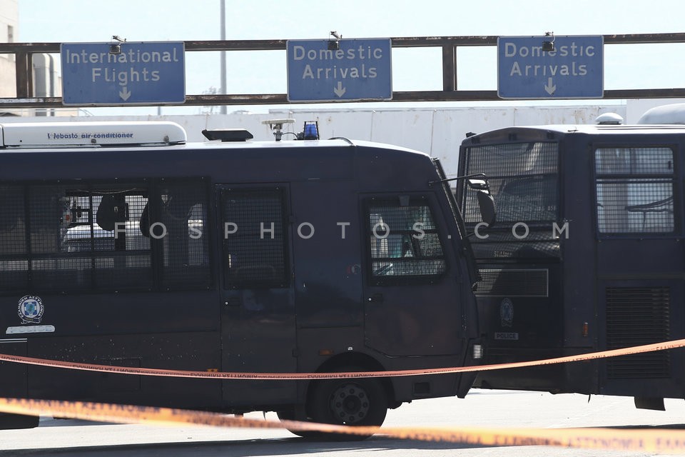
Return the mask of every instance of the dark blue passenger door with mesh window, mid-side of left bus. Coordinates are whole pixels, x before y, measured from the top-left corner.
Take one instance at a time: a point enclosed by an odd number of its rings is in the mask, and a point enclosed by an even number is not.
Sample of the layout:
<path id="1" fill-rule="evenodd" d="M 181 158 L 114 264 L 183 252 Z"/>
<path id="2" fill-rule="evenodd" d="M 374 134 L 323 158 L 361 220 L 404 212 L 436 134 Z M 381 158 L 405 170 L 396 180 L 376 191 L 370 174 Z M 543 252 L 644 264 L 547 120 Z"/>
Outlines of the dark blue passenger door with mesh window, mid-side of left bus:
<path id="1" fill-rule="evenodd" d="M 296 371 L 288 186 L 216 188 L 221 251 L 223 371 Z M 234 406 L 292 401 L 295 383 L 223 381 Z"/>

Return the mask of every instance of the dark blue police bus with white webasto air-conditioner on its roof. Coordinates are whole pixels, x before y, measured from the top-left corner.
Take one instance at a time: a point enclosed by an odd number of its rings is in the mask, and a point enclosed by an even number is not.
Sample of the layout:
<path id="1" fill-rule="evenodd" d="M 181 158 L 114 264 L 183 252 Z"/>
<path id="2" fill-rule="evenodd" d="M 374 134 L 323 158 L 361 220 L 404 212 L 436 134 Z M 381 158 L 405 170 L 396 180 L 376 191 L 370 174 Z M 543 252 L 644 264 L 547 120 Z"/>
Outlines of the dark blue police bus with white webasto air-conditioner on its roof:
<path id="1" fill-rule="evenodd" d="M 348 139 L 173 123 L 0 126 L 0 352 L 190 371 L 477 363 L 464 226 L 440 163 Z M 245 381 L 0 363 L 0 396 L 380 426 L 474 375 Z M 2 416 L 4 428 L 38 418 Z"/>

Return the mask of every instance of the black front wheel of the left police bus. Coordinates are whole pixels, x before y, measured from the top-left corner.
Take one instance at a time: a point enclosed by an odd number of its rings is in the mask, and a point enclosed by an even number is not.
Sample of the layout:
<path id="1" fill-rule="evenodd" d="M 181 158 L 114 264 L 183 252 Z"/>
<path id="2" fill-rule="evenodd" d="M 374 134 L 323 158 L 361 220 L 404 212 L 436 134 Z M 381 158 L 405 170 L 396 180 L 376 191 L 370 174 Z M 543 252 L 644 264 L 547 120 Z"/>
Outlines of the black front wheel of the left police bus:
<path id="1" fill-rule="evenodd" d="M 341 371 L 360 371 L 360 368 Z M 314 422 L 380 427 L 385 421 L 387 406 L 387 393 L 378 378 L 329 379 L 313 384 L 307 410 Z M 357 441 L 372 434 L 321 433 L 317 438 Z"/>

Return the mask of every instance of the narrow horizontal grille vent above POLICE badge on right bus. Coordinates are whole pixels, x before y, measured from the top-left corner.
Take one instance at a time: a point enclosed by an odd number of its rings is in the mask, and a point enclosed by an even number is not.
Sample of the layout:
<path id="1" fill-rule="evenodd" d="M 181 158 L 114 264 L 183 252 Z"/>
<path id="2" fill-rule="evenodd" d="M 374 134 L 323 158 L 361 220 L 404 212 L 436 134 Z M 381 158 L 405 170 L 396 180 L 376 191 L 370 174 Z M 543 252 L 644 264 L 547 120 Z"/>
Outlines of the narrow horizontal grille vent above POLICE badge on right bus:
<path id="1" fill-rule="evenodd" d="M 549 271 L 546 269 L 481 268 L 477 296 L 546 297 Z"/>

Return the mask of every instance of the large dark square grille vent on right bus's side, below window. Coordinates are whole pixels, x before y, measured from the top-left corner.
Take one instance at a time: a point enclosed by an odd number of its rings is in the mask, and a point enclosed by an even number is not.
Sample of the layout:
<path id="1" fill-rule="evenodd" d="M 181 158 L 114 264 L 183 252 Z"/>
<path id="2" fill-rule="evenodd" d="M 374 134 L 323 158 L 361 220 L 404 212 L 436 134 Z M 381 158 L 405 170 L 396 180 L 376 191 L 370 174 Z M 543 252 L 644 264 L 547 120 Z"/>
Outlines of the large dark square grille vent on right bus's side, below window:
<path id="1" fill-rule="evenodd" d="M 671 298 L 668 287 L 607 288 L 607 348 L 668 341 Z M 667 351 L 610 358 L 609 379 L 669 378 Z"/>

